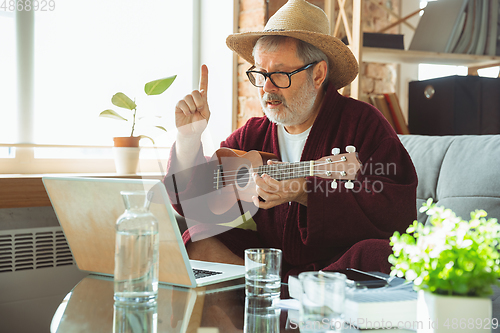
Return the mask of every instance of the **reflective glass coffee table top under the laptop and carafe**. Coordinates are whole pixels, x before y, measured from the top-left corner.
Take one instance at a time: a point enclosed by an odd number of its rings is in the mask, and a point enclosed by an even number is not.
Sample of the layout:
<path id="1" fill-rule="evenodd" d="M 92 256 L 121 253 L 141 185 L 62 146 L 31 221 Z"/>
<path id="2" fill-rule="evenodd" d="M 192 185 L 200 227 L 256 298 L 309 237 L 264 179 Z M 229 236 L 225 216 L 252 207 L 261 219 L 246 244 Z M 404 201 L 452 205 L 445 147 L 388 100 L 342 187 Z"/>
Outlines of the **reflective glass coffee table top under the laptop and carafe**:
<path id="1" fill-rule="evenodd" d="M 287 285 L 282 284 L 281 298 L 287 296 Z M 156 304 L 121 306 L 113 300 L 112 278 L 88 275 L 65 297 L 52 318 L 50 331 L 300 332 L 297 325 L 290 323 L 286 307 L 280 304 L 279 299 L 245 297 L 242 278 L 193 289 L 160 284 Z M 358 330 L 349 328 L 342 332 Z"/>

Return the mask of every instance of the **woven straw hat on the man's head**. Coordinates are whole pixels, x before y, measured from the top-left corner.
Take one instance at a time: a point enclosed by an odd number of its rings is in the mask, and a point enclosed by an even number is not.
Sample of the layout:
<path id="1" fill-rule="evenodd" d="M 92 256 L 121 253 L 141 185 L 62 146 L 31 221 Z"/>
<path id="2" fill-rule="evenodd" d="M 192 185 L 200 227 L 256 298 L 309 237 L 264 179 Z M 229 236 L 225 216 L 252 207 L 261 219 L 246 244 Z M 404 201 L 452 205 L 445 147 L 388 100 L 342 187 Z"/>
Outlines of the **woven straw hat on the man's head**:
<path id="1" fill-rule="evenodd" d="M 329 34 L 330 23 L 321 8 L 305 0 L 289 0 L 267 22 L 264 31 L 229 35 L 227 46 L 251 64 L 257 40 L 265 35 L 288 36 L 316 46 L 328 57 L 329 80 L 340 89 L 358 75 L 358 62 L 351 50 Z"/>

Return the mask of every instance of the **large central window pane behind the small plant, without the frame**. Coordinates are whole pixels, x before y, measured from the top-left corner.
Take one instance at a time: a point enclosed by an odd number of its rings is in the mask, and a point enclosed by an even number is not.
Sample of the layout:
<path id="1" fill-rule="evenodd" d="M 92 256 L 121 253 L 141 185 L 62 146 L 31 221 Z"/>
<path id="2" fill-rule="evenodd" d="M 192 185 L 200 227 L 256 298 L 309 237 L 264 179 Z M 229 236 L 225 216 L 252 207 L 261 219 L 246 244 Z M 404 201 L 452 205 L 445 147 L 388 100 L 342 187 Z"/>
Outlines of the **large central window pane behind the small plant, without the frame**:
<path id="1" fill-rule="evenodd" d="M 169 127 L 175 96 L 192 86 L 192 12 L 190 1 L 163 0 L 60 1 L 35 12 L 34 141 L 109 145 L 130 135 L 130 123 L 97 117 L 127 113 L 111 104 L 119 91 L 135 98 L 139 117 L 162 115 Z M 145 95 L 146 82 L 174 74 L 171 90 Z M 142 130 L 166 144 L 161 132 Z"/>

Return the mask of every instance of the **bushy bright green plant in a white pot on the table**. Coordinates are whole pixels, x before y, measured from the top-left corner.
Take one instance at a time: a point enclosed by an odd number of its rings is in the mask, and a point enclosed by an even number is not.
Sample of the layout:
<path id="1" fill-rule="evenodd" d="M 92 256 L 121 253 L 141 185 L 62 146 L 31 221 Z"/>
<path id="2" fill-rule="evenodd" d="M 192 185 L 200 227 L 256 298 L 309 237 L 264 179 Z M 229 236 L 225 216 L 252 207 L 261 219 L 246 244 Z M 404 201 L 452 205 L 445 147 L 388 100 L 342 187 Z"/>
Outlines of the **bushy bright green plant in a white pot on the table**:
<path id="1" fill-rule="evenodd" d="M 488 296 L 499 285 L 500 225 L 484 210 L 462 220 L 432 199 L 420 211 L 430 223 L 395 232 L 389 257 L 391 275 L 418 290 L 418 332 L 490 332 L 498 326 Z"/>

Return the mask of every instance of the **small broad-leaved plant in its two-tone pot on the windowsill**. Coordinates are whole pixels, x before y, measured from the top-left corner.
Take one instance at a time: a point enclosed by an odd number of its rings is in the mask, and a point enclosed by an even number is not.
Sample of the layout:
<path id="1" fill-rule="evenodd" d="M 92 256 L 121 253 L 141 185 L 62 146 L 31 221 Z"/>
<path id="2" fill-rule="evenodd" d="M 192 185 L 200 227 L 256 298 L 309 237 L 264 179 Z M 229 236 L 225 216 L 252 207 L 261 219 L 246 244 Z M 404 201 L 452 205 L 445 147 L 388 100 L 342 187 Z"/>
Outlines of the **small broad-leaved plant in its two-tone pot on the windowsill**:
<path id="1" fill-rule="evenodd" d="M 144 92 L 146 95 L 159 95 L 167 90 L 170 85 L 174 82 L 177 76 L 171 76 L 164 79 L 154 80 L 146 83 L 144 86 Z M 111 98 L 111 103 L 113 105 L 128 110 L 128 115 L 122 116 L 120 113 L 107 109 L 102 111 L 99 116 L 112 118 L 120 121 L 130 121 L 131 122 L 131 132 L 130 136 L 125 137 L 114 137 L 114 155 L 115 155 L 115 166 L 116 172 L 118 174 L 135 174 L 137 172 L 137 166 L 139 164 L 139 154 L 140 145 L 139 141 L 141 139 L 149 139 L 154 144 L 154 140 L 146 135 L 136 135 L 135 126 L 137 121 L 140 119 L 137 116 L 137 104 L 135 101 L 130 99 L 127 95 L 122 92 L 118 92 Z M 162 131 L 167 131 L 163 126 L 155 126 Z"/>

